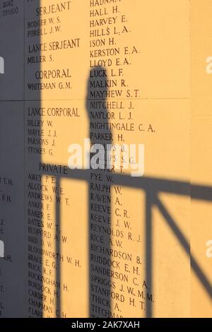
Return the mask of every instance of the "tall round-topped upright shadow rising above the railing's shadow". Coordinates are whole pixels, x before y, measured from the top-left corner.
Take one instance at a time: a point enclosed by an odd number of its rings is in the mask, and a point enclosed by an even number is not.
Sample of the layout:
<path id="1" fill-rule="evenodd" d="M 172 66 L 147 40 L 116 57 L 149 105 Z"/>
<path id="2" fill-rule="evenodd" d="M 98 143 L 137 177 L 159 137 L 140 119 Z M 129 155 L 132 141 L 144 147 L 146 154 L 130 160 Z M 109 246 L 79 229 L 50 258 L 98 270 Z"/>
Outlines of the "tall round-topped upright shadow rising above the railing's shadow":
<path id="1" fill-rule="evenodd" d="M 112 144 L 112 132 L 107 120 L 107 71 L 102 67 L 96 67 L 90 71 L 86 109 L 91 147 L 88 189 L 90 317 L 107 318 L 111 316 L 112 288 L 110 278 L 112 173 L 107 169 L 107 157 L 110 155 L 108 145 Z"/>

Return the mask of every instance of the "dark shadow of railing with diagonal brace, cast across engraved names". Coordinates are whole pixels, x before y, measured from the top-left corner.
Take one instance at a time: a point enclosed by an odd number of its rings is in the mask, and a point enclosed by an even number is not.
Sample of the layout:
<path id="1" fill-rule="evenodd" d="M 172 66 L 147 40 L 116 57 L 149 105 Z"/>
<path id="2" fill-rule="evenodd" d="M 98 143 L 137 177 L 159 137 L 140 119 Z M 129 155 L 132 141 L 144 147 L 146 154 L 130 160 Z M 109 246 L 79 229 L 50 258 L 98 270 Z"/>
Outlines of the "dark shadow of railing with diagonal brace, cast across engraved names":
<path id="1" fill-rule="evenodd" d="M 47 169 L 51 169 L 52 165 L 46 165 Z M 54 175 L 52 172 L 47 172 L 47 175 Z M 68 170 L 66 178 L 78 179 L 79 181 L 88 182 L 90 181 L 90 171 L 88 170 Z M 60 180 L 64 177 L 57 176 L 57 186 L 60 185 Z M 185 253 L 190 259 L 192 270 L 196 277 L 201 283 L 206 295 L 211 299 L 212 287 L 210 280 L 202 271 L 199 263 L 190 251 L 190 245 L 187 238 L 184 236 L 177 223 L 175 222 L 172 215 L 167 211 L 164 204 L 160 201 L 159 194 L 169 193 L 177 194 L 180 196 L 191 196 L 194 200 L 201 201 L 212 201 L 212 188 L 211 186 L 199 186 L 191 185 L 189 182 L 173 181 L 168 179 L 157 179 L 151 177 L 131 177 L 126 174 L 113 174 L 112 185 L 126 186 L 134 189 L 141 189 L 146 193 L 146 282 L 148 287 L 151 289 L 153 285 L 153 266 L 152 266 L 152 252 L 153 252 L 153 241 L 152 241 L 152 229 L 153 229 L 153 218 L 152 209 L 153 206 L 158 208 L 160 214 L 163 215 L 167 225 L 170 227 L 173 235 L 175 235 L 179 244 L 181 244 Z M 60 223 L 59 207 L 57 208 L 57 225 Z M 60 250 L 59 244 L 57 250 Z M 90 248 L 88 249 L 90 252 Z M 57 263 L 57 280 L 60 280 L 60 263 Z M 60 295 L 57 297 L 57 311 L 60 315 Z M 151 318 L 153 316 L 153 308 L 151 301 L 146 300 L 146 317 Z"/>

